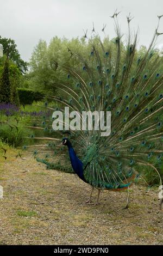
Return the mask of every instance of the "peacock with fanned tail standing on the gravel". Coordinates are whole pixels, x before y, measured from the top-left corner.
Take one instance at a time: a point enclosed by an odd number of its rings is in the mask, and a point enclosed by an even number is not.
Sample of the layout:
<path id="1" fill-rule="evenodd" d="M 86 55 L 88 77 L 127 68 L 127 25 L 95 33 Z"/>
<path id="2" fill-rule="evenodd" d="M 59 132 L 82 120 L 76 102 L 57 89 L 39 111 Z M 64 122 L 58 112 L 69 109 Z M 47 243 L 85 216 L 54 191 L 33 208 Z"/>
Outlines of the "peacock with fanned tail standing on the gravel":
<path id="1" fill-rule="evenodd" d="M 111 16 L 116 32 L 113 40 L 102 41 L 93 24 L 90 38 L 87 31 L 83 36 L 83 40 L 89 42 L 87 53 L 68 47 L 68 65 L 55 62 L 55 70 L 61 72 L 65 82 L 52 83 L 57 93 L 49 92 L 41 107 L 51 113 L 62 113 L 64 119 L 59 121 L 62 129 L 53 129 L 56 120 L 53 115 L 37 118 L 28 126 L 32 129 L 30 139 L 34 145 L 23 147 L 24 150 L 32 148 L 35 159 L 47 169 L 75 173 L 91 185 L 88 204 L 94 189 L 98 191 L 96 205 L 103 190 L 128 190 L 129 193 L 129 187 L 137 182 L 143 168 L 153 169 L 161 185 L 163 74 L 162 57 L 155 50 L 155 44 L 162 34 L 158 29 L 163 15 L 158 16 L 158 26 L 147 51 L 138 56 L 137 33 L 133 35 L 130 31 L 133 18 L 130 14 L 127 16 L 128 35 L 124 46 L 119 14 L 116 11 Z M 105 25 L 102 32 L 105 33 Z M 74 60 L 78 65 L 74 65 Z M 93 129 L 79 129 L 79 121 L 83 119 L 80 114 L 73 121 L 72 129 L 64 129 L 65 107 L 77 113 L 110 112 L 110 134 L 101 136 L 101 131 L 95 130 L 95 118 L 92 118 Z M 86 118 L 89 122 L 89 115 Z M 100 118 L 98 124 L 99 121 Z M 129 194 L 126 208 L 128 199 Z"/>

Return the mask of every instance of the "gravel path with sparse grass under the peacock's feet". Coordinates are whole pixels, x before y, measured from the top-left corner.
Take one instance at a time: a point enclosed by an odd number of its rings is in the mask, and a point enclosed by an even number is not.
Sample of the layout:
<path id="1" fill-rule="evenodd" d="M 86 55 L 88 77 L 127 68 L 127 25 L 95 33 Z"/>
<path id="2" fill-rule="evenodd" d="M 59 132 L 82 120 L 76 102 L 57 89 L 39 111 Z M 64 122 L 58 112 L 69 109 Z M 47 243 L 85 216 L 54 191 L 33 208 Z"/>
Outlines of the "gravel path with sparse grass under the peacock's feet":
<path id="1" fill-rule="evenodd" d="M 89 185 L 29 157 L 1 164 L 0 185 L 1 245 L 163 245 L 157 190 L 131 187 L 128 210 L 127 192 L 104 191 L 101 205 L 84 205 Z"/>

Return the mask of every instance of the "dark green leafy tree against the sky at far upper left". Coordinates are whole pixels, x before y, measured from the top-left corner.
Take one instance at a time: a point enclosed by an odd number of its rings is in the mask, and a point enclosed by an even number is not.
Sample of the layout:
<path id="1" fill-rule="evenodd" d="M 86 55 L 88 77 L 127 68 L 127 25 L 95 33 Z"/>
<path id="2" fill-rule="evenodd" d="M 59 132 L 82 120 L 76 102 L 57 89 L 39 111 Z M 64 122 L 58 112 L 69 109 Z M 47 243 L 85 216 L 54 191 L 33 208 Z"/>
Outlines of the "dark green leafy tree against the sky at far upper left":
<path id="1" fill-rule="evenodd" d="M 8 58 L 12 60 L 24 74 L 28 70 L 28 63 L 21 59 L 15 41 L 11 38 L 2 38 L 0 35 L 0 44 L 3 45 L 3 53 L 8 56 Z"/>

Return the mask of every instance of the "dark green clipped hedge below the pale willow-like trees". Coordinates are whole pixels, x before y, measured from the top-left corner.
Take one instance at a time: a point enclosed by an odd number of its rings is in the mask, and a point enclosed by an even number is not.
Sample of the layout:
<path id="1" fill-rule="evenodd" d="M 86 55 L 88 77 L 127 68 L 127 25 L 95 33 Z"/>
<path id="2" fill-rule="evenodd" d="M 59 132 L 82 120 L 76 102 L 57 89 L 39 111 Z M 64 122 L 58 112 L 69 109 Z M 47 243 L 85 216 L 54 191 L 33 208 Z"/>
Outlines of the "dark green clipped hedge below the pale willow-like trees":
<path id="1" fill-rule="evenodd" d="M 34 101 L 42 100 L 44 94 L 30 89 L 18 88 L 18 96 L 22 105 L 31 105 Z"/>

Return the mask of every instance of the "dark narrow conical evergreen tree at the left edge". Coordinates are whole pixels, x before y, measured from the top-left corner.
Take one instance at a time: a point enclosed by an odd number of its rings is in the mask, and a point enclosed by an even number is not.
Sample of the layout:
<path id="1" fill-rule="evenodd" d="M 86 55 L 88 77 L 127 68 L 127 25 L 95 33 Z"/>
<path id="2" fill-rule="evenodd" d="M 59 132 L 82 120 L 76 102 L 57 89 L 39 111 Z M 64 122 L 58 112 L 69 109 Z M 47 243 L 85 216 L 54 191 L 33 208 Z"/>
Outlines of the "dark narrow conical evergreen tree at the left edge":
<path id="1" fill-rule="evenodd" d="M 10 101 L 11 87 L 9 79 L 9 61 L 6 59 L 0 81 L 0 102 L 9 103 Z"/>

